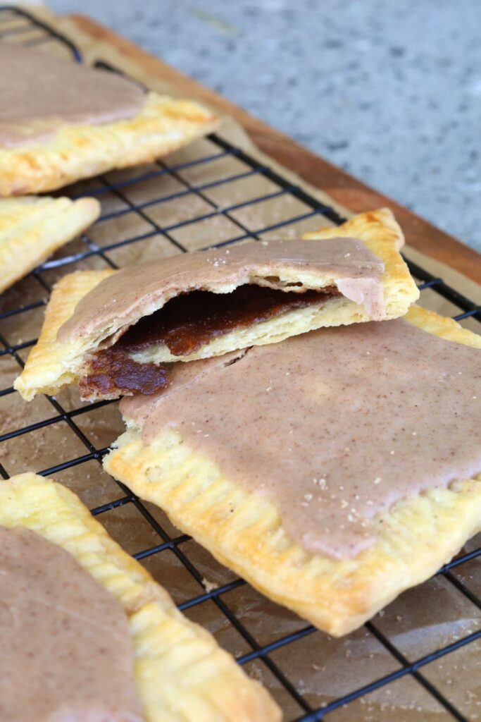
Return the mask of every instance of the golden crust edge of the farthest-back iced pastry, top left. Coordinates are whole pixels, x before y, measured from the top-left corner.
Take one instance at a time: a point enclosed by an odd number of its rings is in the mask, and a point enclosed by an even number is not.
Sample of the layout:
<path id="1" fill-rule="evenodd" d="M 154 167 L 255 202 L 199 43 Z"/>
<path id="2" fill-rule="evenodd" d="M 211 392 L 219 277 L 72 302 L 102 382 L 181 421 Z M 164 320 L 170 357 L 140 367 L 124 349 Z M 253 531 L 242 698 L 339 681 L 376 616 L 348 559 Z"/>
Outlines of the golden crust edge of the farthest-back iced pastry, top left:
<path id="1" fill-rule="evenodd" d="M 198 103 L 149 92 L 141 113 L 130 120 L 67 125 L 45 142 L 0 148 L 0 196 L 51 191 L 107 170 L 141 165 L 218 125 Z"/>

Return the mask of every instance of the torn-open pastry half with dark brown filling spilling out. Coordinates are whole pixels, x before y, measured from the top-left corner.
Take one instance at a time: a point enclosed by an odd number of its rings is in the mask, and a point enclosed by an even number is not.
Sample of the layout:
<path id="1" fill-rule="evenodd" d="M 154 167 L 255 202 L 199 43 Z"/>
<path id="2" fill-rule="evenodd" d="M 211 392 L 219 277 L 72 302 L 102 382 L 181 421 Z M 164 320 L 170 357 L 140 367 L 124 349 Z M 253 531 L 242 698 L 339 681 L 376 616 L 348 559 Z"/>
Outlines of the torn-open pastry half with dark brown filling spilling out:
<path id="1" fill-rule="evenodd" d="M 80 383 L 84 399 L 149 395 L 163 364 L 272 344 L 321 326 L 396 318 L 419 292 L 392 213 L 311 240 L 262 240 L 122 271 L 81 271 L 53 290 L 15 388 L 30 400 Z"/>

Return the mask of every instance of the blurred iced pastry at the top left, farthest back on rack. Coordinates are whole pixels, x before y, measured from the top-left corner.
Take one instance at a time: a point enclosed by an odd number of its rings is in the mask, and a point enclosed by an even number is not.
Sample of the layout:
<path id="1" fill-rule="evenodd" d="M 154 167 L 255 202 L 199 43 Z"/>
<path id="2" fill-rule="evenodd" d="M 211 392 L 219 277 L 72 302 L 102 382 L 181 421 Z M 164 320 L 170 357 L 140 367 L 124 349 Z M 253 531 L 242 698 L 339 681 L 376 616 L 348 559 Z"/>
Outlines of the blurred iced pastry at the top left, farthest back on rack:
<path id="1" fill-rule="evenodd" d="M 218 125 L 198 103 L 13 43 L 0 66 L 0 196 L 150 162 Z"/>

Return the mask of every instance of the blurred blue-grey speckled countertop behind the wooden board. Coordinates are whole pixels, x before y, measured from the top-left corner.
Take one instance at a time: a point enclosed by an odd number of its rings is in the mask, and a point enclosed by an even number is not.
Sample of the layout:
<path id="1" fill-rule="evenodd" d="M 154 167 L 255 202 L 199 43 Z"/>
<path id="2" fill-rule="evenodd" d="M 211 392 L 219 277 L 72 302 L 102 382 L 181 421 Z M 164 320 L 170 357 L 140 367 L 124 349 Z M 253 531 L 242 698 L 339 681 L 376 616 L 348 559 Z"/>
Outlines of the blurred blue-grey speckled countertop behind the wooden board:
<path id="1" fill-rule="evenodd" d="M 50 0 L 481 250 L 480 0 Z"/>

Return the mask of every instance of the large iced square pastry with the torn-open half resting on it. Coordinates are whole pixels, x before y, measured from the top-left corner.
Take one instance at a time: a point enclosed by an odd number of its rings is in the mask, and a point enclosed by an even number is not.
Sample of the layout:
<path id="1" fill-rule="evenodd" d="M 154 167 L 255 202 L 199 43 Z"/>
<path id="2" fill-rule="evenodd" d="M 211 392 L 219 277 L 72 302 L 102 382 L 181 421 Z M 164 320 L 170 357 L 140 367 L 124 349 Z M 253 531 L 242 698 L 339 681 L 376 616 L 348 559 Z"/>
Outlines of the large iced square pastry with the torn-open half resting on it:
<path id="1" fill-rule="evenodd" d="M 481 529 L 481 336 L 413 306 L 177 364 L 105 470 L 266 596 L 356 629 Z"/>

